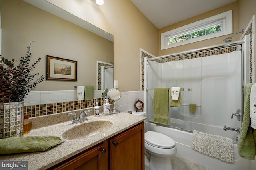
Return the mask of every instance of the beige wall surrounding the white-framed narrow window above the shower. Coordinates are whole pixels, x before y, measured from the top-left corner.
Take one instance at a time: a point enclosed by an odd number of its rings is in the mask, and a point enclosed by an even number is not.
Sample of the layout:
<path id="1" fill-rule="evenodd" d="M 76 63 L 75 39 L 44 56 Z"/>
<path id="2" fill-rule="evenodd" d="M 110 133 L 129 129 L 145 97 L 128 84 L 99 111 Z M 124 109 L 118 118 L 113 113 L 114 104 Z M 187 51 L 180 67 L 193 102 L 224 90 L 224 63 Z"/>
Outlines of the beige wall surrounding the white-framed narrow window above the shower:
<path id="1" fill-rule="evenodd" d="M 232 11 L 232 13 L 233 13 L 233 33 L 237 32 L 238 31 L 238 2 L 236 1 L 236 2 L 230 3 L 228 5 L 222 6 L 220 8 L 216 8 L 214 10 L 206 12 L 204 14 L 200 14 L 198 16 L 195 16 L 195 17 L 189 18 L 187 20 L 184 20 L 184 21 L 175 23 L 173 25 L 170 25 L 168 27 L 164 27 L 162 29 L 159 29 L 159 32 L 158 32 L 158 39 L 159 39 L 158 40 L 158 42 L 159 42 L 159 44 L 158 44 L 158 49 L 159 49 L 158 50 L 158 55 L 159 56 L 168 55 L 168 54 L 177 53 L 177 52 L 180 52 L 180 51 L 186 51 L 186 50 L 190 50 L 190 49 L 197 49 L 197 48 L 201 48 L 201 47 L 207 47 L 207 46 L 211 46 L 211 45 L 224 43 L 223 39 L 230 36 L 231 34 L 221 36 L 221 37 L 216 37 L 216 38 L 213 38 L 213 39 L 204 40 L 204 41 L 198 41 L 198 42 L 190 43 L 190 44 L 186 44 L 186 45 L 181 45 L 181 46 L 173 47 L 173 48 L 170 48 L 170 49 L 161 50 L 161 33 L 164 33 L 166 31 L 170 31 L 170 30 L 178 28 L 178 27 L 182 27 L 184 25 L 188 25 L 188 24 L 196 22 L 196 21 L 203 20 L 205 18 L 220 14 L 222 12 L 226 12 L 228 10 L 233 10 Z M 234 36 L 233 40 L 237 40 L 239 38 L 240 38 L 239 36 Z"/>

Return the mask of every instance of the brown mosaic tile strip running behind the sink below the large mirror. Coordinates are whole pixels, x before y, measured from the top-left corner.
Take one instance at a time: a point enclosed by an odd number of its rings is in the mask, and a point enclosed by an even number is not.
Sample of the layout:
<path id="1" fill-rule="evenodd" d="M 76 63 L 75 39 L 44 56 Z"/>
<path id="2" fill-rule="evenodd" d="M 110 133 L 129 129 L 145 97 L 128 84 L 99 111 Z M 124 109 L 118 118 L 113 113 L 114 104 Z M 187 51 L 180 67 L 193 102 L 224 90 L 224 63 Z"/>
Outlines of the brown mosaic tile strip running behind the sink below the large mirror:
<path id="1" fill-rule="evenodd" d="M 105 99 L 106 98 L 97 98 L 97 99 L 77 100 L 77 101 L 70 101 L 70 102 L 59 102 L 59 103 L 24 106 L 23 113 L 28 114 L 29 117 L 50 115 L 50 114 L 61 113 L 65 111 L 73 111 L 78 109 L 94 107 L 96 102 L 98 102 L 99 106 L 102 106 L 105 102 Z M 109 102 L 110 104 L 114 103 L 110 99 L 108 101 L 110 101 Z"/>

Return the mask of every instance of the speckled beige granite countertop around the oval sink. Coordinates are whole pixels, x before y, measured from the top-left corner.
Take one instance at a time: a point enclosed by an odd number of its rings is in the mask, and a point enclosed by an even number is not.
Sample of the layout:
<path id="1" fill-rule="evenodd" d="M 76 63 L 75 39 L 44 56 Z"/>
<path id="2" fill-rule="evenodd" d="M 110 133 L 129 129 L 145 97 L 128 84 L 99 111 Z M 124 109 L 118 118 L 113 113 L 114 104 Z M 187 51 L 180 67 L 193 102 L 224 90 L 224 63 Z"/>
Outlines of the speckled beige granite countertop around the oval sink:
<path id="1" fill-rule="evenodd" d="M 87 109 L 88 110 L 88 109 Z M 92 109 L 93 110 L 93 109 Z M 74 111 L 73 111 L 74 112 Z M 74 156 L 83 150 L 86 150 L 146 119 L 146 117 L 132 115 L 128 113 L 118 113 L 112 115 L 102 115 L 94 117 L 92 114 L 88 116 L 88 121 L 78 124 L 72 124 L 72 116 L 67 113 L 58 113 L 54 115 L 46 115 L 31 118 L 32 130 L 26 136 L 44 136 L 54 135 L 63 139 L 65 142 L 53 147 L 45 152 L 31 152 L 21 154 L 2 154 L 0 160 L 9 161 L 28 161 L 28 170 L 44 170 Z M 60 118 L 61 117 L 61 118 Z M 110 129 L 80 139 L 64 139 L 62 134 L 72 127 L 90 123 L 94 121 L 110 121 L 113 123 Z M 57 124 L 56 124 L 57 122 Z M 47 126 L 45 126 L 47 125 Z M 36 128 L 36 129 L 35 129 Z M 79 133 L 79 131 L 77 132 Z"/>

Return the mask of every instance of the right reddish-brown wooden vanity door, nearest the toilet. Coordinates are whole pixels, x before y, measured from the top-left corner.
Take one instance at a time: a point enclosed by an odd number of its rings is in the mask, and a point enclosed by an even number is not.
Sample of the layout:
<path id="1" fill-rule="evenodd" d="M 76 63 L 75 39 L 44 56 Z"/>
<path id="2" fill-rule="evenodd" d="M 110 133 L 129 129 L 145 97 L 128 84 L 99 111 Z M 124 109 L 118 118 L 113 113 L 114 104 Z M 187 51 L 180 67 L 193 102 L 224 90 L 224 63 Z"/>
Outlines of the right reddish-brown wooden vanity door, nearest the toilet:
<path id="1" fill-rule="evenodd" d="M 144 170 L 144 122 L 110 139 L 110 170 Z"/>

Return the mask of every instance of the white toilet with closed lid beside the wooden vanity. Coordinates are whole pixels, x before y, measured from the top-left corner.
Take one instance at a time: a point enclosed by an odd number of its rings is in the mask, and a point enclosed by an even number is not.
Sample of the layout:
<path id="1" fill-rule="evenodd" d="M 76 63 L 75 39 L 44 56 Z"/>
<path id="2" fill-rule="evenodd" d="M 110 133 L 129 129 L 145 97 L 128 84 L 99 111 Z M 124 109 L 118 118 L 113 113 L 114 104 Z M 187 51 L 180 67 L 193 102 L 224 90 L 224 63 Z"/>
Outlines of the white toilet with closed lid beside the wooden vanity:
<path id="1" fill-rule="evenodd" d="M 172 170 L 170 156 L 177 153 L 174 140 L 162 133 L 147 131 L 145 149 L 151 154 L 149 160 L 151 170 Z"/>

